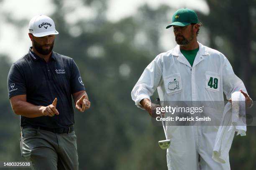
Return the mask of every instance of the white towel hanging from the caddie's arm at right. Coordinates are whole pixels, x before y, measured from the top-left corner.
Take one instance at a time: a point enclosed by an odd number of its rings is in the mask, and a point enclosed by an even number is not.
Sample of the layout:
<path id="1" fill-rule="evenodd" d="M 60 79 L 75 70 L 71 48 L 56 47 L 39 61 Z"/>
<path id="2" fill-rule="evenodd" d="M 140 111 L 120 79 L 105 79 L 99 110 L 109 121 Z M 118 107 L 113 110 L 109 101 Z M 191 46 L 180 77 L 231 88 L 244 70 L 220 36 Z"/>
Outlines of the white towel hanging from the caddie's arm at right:
<path id="1" fill-rule="evenodd" d="M 228 102 L 225 105 L 212 153 L 212 159 L 218 163 L 228 161 L 235 132 L 246 135 L 245 97 L 241 92 L 233 92 L 231 98 L 232 104 Z"/>

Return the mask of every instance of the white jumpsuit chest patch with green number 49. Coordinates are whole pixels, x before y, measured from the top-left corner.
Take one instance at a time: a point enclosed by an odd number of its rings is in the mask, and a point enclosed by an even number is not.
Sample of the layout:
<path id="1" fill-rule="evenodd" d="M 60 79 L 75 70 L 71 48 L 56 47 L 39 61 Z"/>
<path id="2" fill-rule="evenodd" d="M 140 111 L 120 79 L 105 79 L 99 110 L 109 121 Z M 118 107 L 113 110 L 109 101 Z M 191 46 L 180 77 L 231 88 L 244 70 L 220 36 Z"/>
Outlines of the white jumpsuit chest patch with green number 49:
<path id="1" fill-rule="evenodd" d="M 205 72 L 205 89 L 212 92 L 220 91 L 220 76 L 215 72 Z"/>

